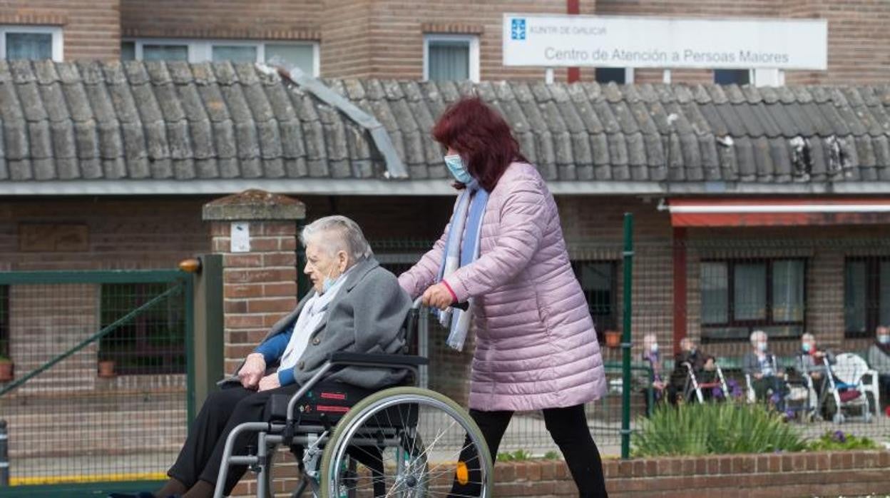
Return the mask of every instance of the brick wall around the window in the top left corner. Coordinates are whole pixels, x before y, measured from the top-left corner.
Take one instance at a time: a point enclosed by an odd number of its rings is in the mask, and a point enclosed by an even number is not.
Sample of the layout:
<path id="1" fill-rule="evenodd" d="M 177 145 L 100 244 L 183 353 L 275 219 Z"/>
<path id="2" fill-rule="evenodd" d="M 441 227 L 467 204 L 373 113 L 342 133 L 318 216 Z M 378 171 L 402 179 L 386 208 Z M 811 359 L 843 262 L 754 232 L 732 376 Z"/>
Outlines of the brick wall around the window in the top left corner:
<path id="1" fill-rule="evenodd" d="M 12 0 L 0 9 L 0 25 L 60 27 L 66 60 L 117 59 L 119 7 L 120 0 Z"/>

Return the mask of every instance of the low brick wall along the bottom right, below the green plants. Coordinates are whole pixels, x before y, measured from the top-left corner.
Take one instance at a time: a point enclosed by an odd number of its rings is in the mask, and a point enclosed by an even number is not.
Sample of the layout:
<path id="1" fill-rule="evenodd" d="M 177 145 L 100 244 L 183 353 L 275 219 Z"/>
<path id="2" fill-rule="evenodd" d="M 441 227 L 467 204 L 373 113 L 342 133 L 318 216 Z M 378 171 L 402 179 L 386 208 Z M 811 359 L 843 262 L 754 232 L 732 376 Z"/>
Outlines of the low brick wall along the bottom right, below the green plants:
<path id="1" fill-rule="evenodd" d="M 890 453 L 709 455 L 603 461 L 613 498 L 883 496 Z M 495 496 L 578 496 L 562 461 L 501 462 Z"/>

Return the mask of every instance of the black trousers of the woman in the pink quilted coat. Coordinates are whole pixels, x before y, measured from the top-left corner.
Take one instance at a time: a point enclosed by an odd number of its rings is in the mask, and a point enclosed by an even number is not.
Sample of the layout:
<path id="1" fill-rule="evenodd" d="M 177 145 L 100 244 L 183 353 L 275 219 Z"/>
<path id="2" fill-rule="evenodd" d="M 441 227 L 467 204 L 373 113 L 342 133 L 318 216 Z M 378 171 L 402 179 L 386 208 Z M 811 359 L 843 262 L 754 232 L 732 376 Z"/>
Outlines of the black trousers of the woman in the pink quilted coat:
<path id="1" fill-rule="evenodd" d="M 481 412 L 470 409 L 470 415 L 482 431 L 485 442 L 489 445 L 492 459 L 498 457 L 498 447 L 504 437 L 507 425 L 513 418 L 513 412 Z M 606 482 L 603 476 L 603 461 L 600 451 L 596 448 L 594 438 L 587 428 L 587 416 L 584 405 L 576 404 L 568 408 L 547 408 L 544 410 L 544 424 L 550 437 L 562 450 L 565 462 L 569 466 L 571 477 L 578 486 L 581 498 L 608 498 Z M 467 450 L 466 448 L 471 448 Z M 470 470 L 470 484 L 461 486 L 455 482 L 451 488 L 451 496 L 479 496 L 481 490 L 473 483 L 481 481 L 478 471 L 473 471 L 474 455 L 472 446 L 467 439 L 465 451 L 460 460 L 467 462 Z M 478 464 L 476 464 L 478 465 Z"/>

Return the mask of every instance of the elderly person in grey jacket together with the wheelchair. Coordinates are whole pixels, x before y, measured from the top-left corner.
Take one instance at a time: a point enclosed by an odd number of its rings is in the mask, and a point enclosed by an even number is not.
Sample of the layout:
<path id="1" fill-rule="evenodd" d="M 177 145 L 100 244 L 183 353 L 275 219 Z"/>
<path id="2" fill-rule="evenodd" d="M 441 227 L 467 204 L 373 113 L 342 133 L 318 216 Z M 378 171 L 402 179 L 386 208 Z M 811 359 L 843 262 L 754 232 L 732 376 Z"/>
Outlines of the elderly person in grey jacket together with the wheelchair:
<path id="1" fill-rule="evenodd" d="M 257 496 L 270 495 L 278 445 L 302 470 L 295 495 L 424 496 L 446 475 L 488 495 L 490 454 L 472 419 L 447 397 L 404 386 L 425 364 L 403 354 L 417 307 L 360 227 L 328 216 L 301 241 L 313 291 L 207 397 L 166 485 L 137 496 L 228 495 L 247 469 L 258 473 Z M 457 461 L 467 436 L 473 461 Z"/>

